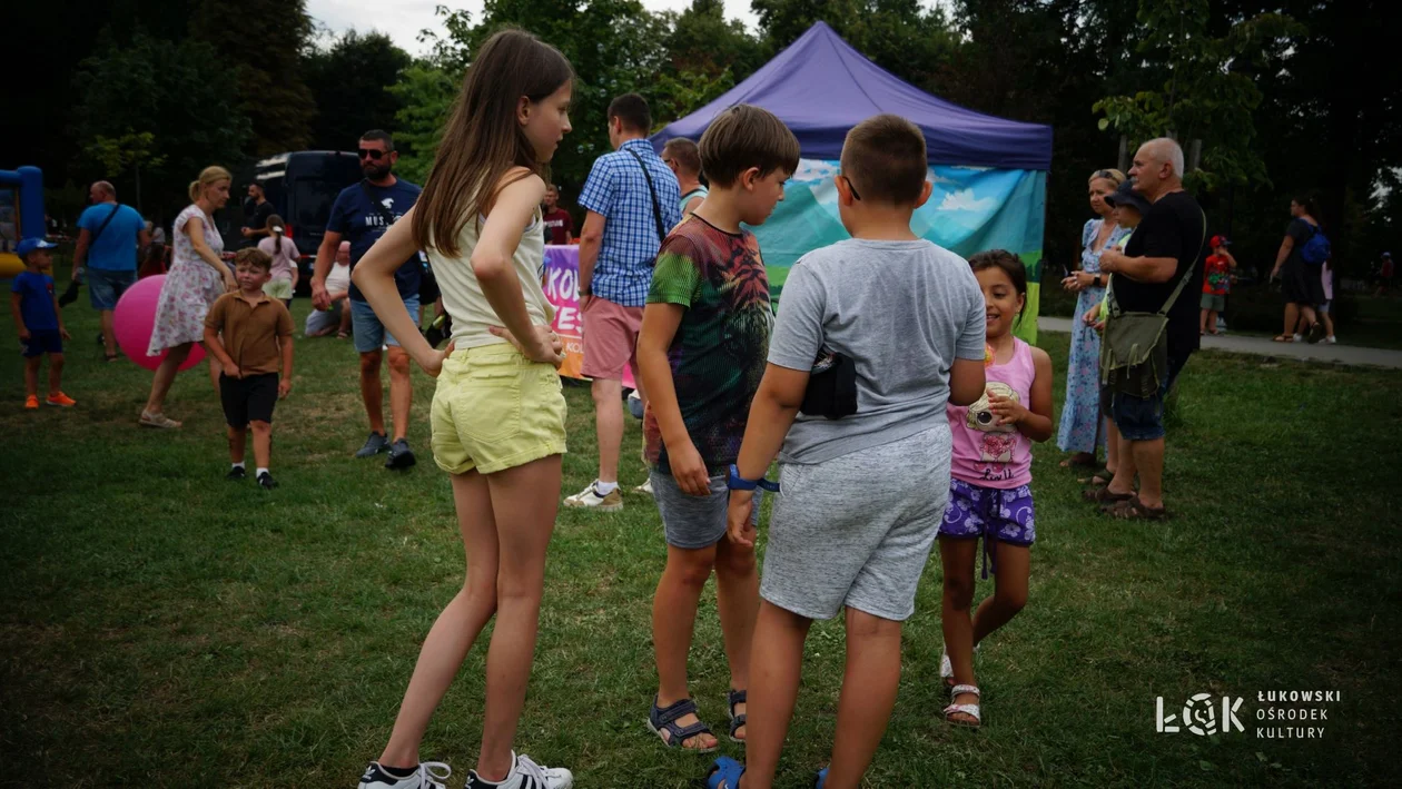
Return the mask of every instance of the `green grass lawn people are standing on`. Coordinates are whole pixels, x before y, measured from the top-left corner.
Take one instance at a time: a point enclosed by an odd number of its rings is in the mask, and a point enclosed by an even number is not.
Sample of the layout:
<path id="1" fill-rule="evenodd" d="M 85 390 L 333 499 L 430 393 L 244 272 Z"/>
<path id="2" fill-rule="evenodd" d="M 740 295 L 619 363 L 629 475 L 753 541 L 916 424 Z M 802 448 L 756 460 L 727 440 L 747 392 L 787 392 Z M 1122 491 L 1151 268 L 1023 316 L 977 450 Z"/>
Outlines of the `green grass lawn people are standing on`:
<path id="1" fill-rule="evenodd" d="M 101 362 L 86 294 L 67 320 L 76 409 L 22 411 L 20 356 L 0 363 L 11 446 L 0 460 L 0 783 L 353 786 L 463 582 L 449 481 L 428 455 L 433 383 L 415 373 L 419 467 L 388 472 L 350 457 L 366 432 L 350 345 L 299 339 L 275 422 L 282 488 L 265 493 L 222 479 L 223 423 L 202 371 L 171 392 L 182 430 L 137 429 L 150 374 Z M 1043 345 L 1060 374 L 1064 335 Z M 1164 524 L 1096 514 L 1043 447 L 1030 601 L 981 652 L 983 730 L 938 719 L 931 562 L 866 785 L 1384 783 L 1402 725 L 1399 387 L 1396 371 L 1195 357 L 1168 454 L 1176 517 Z M 1060 402 L 1060 378 L 1054 388 Z M 586 390 L 566 394 L 568 493 L 593 475 L 594 439 Z M 628 430 L 637 447 L 638 423 Z M 642 481 L 625 462 L 622 482 Z M 582 788 L 694 786 L 709 758 L 666 751 L 644 726 L 665 547 L 652 503 L 627 502 L 617 516 L 559 516 L 519 747 L 572 768 Z M 423 744 L 425 758 L 456 767 L 457 786 L 481 734 L 484 654 L 474 649 Z M 810 786 L 826 760 L 841 654 L 841 626 L 815 626 L 781 786 Z M 722 726 L 714 596 L 691 670 L 705 719 Z M 1323 739 L 1255 739 L 1256 694 L 1270 689 L 1342 692 Z M 1155 697 L 1173 712 L 1197 692 L 1248 697 L 1248 732 L 1155 733 Z"/>

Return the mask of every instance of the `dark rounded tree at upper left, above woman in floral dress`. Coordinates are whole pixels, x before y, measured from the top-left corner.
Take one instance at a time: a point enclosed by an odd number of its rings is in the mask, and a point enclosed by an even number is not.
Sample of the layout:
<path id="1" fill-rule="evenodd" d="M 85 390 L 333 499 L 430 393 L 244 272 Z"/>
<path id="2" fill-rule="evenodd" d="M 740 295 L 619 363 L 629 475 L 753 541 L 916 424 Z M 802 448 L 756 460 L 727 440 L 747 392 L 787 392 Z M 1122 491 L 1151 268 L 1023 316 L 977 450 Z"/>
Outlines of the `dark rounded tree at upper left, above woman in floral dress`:
<path id="1" fill-rule="evenodd" d="M 139 164 L 143 191 L 171 209 L 200 168 L 241 160 L 248 119 L 234 71 L 207 43 L 140 31 L 125 43 L 108 36 L 80 64 L 74 87 L 72 133 L 95 165 L 84 181 L 115 179 Z M 119 150 L 123 144 L 139 150 Z"/>

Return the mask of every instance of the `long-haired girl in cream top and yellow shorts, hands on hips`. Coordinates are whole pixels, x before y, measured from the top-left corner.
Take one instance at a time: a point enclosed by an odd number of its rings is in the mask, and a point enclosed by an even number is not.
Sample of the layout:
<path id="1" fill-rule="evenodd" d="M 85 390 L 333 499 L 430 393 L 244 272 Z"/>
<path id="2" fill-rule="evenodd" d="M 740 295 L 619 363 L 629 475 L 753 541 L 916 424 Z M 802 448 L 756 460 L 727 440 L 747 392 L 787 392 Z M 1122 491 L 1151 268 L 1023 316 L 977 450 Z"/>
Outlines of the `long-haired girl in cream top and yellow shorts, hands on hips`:
<path id="1" fill-rule="evenodd" d="M 573 71 L 555 48 L 502 31 L 475 53 L 418 202 L 360 258 L 352 279 L 386 328 L 426 373 L 433 395 L 433 461 L 450 474 L 467 544 L 467 583 L 439 617 L 394 732 L 360 789 L 440 786 L 450 769 L 419 762 L 419 743 L 463 657 L 496 619 L 485 675 L 488 711 L 467 789 L 569 789 L 568 769 L 512 750 L 526 701 L 559 503 L 564 362 L 538 270 L 545 163 L 569 132 Z M 454 345 L 418 332 L 394 270 L 426 251 L 453 318 Z M 405 502 L 412 506 L 414 499 Z M 498 576 L 501 568 L 501 576 Z M 498 590 L 509 594 L 498 605 Z M 508 600 L 510 604 L 508 604 Z"/>

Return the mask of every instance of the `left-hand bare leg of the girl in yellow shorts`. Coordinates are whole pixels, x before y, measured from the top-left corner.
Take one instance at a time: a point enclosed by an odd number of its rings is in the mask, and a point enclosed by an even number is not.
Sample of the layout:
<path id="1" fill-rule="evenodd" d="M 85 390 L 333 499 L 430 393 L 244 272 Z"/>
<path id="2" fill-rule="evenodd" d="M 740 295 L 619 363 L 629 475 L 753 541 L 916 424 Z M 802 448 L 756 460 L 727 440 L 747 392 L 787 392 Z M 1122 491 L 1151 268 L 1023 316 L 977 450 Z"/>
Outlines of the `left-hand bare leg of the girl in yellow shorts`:
<path id="1" fill-rule="evenodd" d="M 383 765 L 419 764 L 419 743 L 433 711 L 463 667 L 472 642 L 496 612 L 499 548 L 486 478 L 475 471 L 453 475 L 453 503 L 467 552 L 467 577 L 423 640 L 390 744 L 380 754 Z"/>

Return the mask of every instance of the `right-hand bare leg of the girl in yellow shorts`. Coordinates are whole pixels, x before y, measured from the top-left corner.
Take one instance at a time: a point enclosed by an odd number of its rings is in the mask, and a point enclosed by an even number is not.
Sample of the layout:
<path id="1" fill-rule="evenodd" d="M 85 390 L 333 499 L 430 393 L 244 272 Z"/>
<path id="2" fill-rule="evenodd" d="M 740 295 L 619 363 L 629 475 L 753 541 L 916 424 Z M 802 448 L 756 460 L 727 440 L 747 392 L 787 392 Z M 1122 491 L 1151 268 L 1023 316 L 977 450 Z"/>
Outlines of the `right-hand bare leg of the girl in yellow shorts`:
<path id="1" fill-rule="evenodd" d="M 501 558 L 496 626 L 486 650 L 482 750 L 477 757 L 477 774 L 485 781 L 501 781 L 512 768 L 512 741 L 536 656 L 545 548 L 559 509 L 559 455 L 551 455 L 488 476 Z"/>

